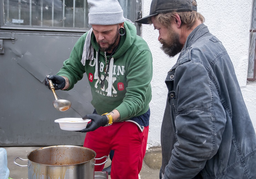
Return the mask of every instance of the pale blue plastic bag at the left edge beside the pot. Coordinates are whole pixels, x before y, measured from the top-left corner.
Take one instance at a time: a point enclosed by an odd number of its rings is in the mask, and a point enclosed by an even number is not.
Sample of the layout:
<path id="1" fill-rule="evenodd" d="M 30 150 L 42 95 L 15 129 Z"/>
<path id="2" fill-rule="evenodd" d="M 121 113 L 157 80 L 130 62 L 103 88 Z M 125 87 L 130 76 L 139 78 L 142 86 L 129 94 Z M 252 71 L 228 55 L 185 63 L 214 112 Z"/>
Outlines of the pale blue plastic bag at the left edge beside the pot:
<path id="1" fill-rule="evenodd" d="M 7 167 L 6 149 L 0 148 L 0 179 L 8 179 L 10 170 Z"/>

